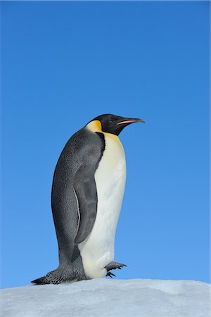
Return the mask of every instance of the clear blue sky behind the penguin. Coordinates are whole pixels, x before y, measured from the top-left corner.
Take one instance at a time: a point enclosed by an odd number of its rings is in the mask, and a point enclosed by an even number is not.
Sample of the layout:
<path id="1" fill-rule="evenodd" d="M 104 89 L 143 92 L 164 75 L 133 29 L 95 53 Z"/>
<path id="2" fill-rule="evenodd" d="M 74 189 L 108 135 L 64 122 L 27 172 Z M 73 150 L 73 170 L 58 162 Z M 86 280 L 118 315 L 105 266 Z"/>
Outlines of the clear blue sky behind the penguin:
<path id="1" fill-rule="evenodd" d="M 146 120 L 120 135 L 117 278 L 209 280 L 209 7 L 1 2 L 2 287 L 57 267 L 53 170 L 101 113 Z"/>

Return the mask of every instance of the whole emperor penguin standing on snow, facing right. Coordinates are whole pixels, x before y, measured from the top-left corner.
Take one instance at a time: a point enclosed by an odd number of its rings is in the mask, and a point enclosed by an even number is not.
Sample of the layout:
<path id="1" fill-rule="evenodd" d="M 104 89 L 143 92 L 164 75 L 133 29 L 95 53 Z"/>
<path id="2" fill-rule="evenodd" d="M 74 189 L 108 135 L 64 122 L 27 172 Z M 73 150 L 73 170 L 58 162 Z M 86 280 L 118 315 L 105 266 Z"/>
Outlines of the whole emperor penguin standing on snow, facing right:
<path id="1" fill-rule="evenodd" d="M 53 175 L 51 207 L 59 266 L 34 284 L 89 280 L 125 266 L 115 262 L 114 244 L 126 180 L 118 135 L 138 118 L 104 114 L 72 135 Z"/>

